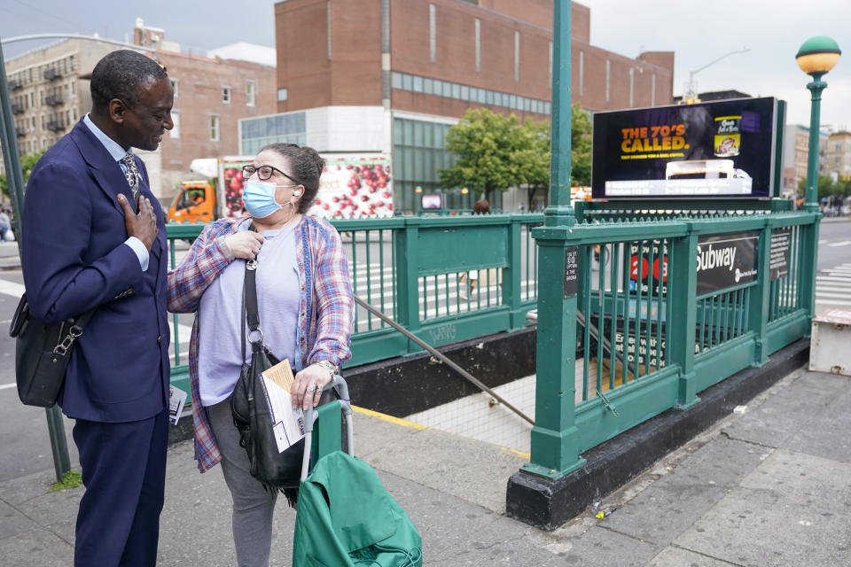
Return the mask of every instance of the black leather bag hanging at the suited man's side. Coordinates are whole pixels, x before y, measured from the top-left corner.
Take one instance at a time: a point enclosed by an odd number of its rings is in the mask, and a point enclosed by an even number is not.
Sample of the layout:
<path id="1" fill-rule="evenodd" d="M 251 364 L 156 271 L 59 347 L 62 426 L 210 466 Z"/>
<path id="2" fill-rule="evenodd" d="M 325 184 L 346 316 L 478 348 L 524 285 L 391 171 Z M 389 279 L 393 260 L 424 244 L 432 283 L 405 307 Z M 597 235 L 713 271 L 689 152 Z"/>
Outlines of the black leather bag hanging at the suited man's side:
<path id="1" fill-rule="evenodd" d="M 9 336 L 15 339 L 15 378 L 18 397 L 25 405 L 52 408 L 59 399 L 74 340 L 95 311 L 47 325 L 29 310 L 27 294 L 21 296 Z"/>

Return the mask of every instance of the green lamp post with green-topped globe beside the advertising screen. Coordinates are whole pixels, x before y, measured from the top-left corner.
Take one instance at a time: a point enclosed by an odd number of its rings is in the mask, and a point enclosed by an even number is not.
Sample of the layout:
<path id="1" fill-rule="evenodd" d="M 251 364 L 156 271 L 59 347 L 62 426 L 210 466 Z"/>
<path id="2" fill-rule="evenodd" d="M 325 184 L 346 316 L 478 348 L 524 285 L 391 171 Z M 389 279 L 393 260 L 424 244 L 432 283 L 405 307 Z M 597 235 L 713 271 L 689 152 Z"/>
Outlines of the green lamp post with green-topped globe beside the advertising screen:
<path id="1" fill-rule="evenodd" d="M 821 114 L 822 91 L 827 83 L 822 81 L 836 62 L 839 61 L 839 44 L 826 35 L 810 37 L 798 50 L 795 60 L 800 70 L 813 78 L 807 85 L 812 94 L 809 113 L 809 155 L 807 158 L 807 191 L 804 210 L 808 213 L 818 211 L 818 139 Z"/>

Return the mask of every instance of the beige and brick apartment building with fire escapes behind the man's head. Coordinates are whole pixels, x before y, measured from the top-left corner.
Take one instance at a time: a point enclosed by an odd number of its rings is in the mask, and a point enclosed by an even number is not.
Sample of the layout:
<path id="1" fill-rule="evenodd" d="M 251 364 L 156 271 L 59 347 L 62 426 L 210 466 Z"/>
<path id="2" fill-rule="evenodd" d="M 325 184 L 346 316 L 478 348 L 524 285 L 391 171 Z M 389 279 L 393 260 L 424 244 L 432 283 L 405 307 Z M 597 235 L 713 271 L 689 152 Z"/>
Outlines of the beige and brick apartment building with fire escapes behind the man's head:
<path id="1" fill-rule="evenodd" d="M 158 198 L 170 201 L 192 159 L 238 153 L 238 120 L 275 113 L 275 67 L 237 58 L 202 57 L 180 52 L 165 32 L 137 19 L 137 45 L 154 49 L 175 86 L 175 128 L 157 151 L 138 151 Z M 268 63 L 271 48 L 240 44 L 230 57 Z M 47 149 L 91 109 L 90 77 L 98 60 L 121 49 L 112 43 L 69 39 L 6 61 L 18 147 L 21 155 Z M 258 56 L 258 50 L 261 55 Z M 218 53 L 214 50 L 212 53 Z M 0 173 L 2 160 L 0 160 Z"/>

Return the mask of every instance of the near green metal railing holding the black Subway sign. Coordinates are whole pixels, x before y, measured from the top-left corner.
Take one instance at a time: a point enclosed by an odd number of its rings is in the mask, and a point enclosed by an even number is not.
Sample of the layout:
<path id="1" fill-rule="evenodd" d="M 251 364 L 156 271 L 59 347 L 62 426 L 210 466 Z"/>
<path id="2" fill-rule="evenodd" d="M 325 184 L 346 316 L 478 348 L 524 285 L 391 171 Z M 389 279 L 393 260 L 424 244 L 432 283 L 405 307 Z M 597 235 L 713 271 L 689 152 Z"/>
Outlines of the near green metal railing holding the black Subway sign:
<path id="1" fill-rule="evenodd" d="M 584 218 L 534 230 L 542 280 L 566 276 L 566 257 L 578 255 L 575 294 L 559 286 L 542 289 L 539 299 L 536 425 L 524 468 L 550 478 L 574 470 L 579 454 L 606 439 L 669 408 L 690 408 L 707 387 L 761 366 L 808 336 L 812 315 L 807 283 L 815 259 L 805 251 L 814 249 L 817 214 L 766 208 Z M 742 234 L 757 239 L 755 279 L 738 283 L 737 276 L 737 283 L 699 294 L 699 239 Z M 772 241 L 785 258 L 782 268 L 772 269 Z M 558 383 L 546 380 L 542 369 L 554 362 L 542 357 L 542 345 L 553 348 L 546 330 L 573 319 L 575 336 L 558 338 L 566 360 Z"/>

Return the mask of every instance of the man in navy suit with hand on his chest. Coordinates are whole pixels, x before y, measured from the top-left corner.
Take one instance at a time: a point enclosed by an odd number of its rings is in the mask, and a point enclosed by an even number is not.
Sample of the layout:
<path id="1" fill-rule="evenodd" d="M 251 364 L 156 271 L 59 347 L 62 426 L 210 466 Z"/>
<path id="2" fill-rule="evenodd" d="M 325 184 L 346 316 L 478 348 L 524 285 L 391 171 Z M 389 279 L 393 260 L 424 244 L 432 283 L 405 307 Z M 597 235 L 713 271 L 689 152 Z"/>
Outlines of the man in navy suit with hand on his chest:
<path id="1" fill-rule="evenodd" d="M 95 66 L 91 98 L 27 184 L 24 283 L 44 322 L 97 308 L 59 395 L 86 486 L 74 565 L 154 565 L 168 439 L 166 231 L 130 148 L 157 149 L 174 126 L 174 92 L 157 62 L 119 50 Z"/>

